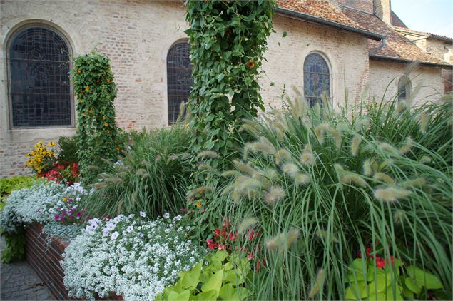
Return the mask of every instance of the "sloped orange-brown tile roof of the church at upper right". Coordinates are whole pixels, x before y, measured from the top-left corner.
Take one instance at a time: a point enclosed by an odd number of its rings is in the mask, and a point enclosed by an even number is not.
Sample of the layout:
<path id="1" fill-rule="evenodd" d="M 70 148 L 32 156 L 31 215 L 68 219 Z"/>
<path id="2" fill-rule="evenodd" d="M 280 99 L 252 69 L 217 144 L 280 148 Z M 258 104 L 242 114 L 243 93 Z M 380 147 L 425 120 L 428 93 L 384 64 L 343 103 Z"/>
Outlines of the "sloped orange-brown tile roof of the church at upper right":
<path id="1" fill-rule="evenodd" d="M 308 14 L 318 19 L 385 36 L 385 46 L 382 46 L 380 41 L 367 40 L 370 57 L 449 66 L 449 63 L 434 58 L 419 49 L 412 41 L 399 34 L 392 26 L 374 14 L 342 6 L 341 3 L 335 5 L 327 0 L 278 0 L 277 4 L 281 9 Z"/>

